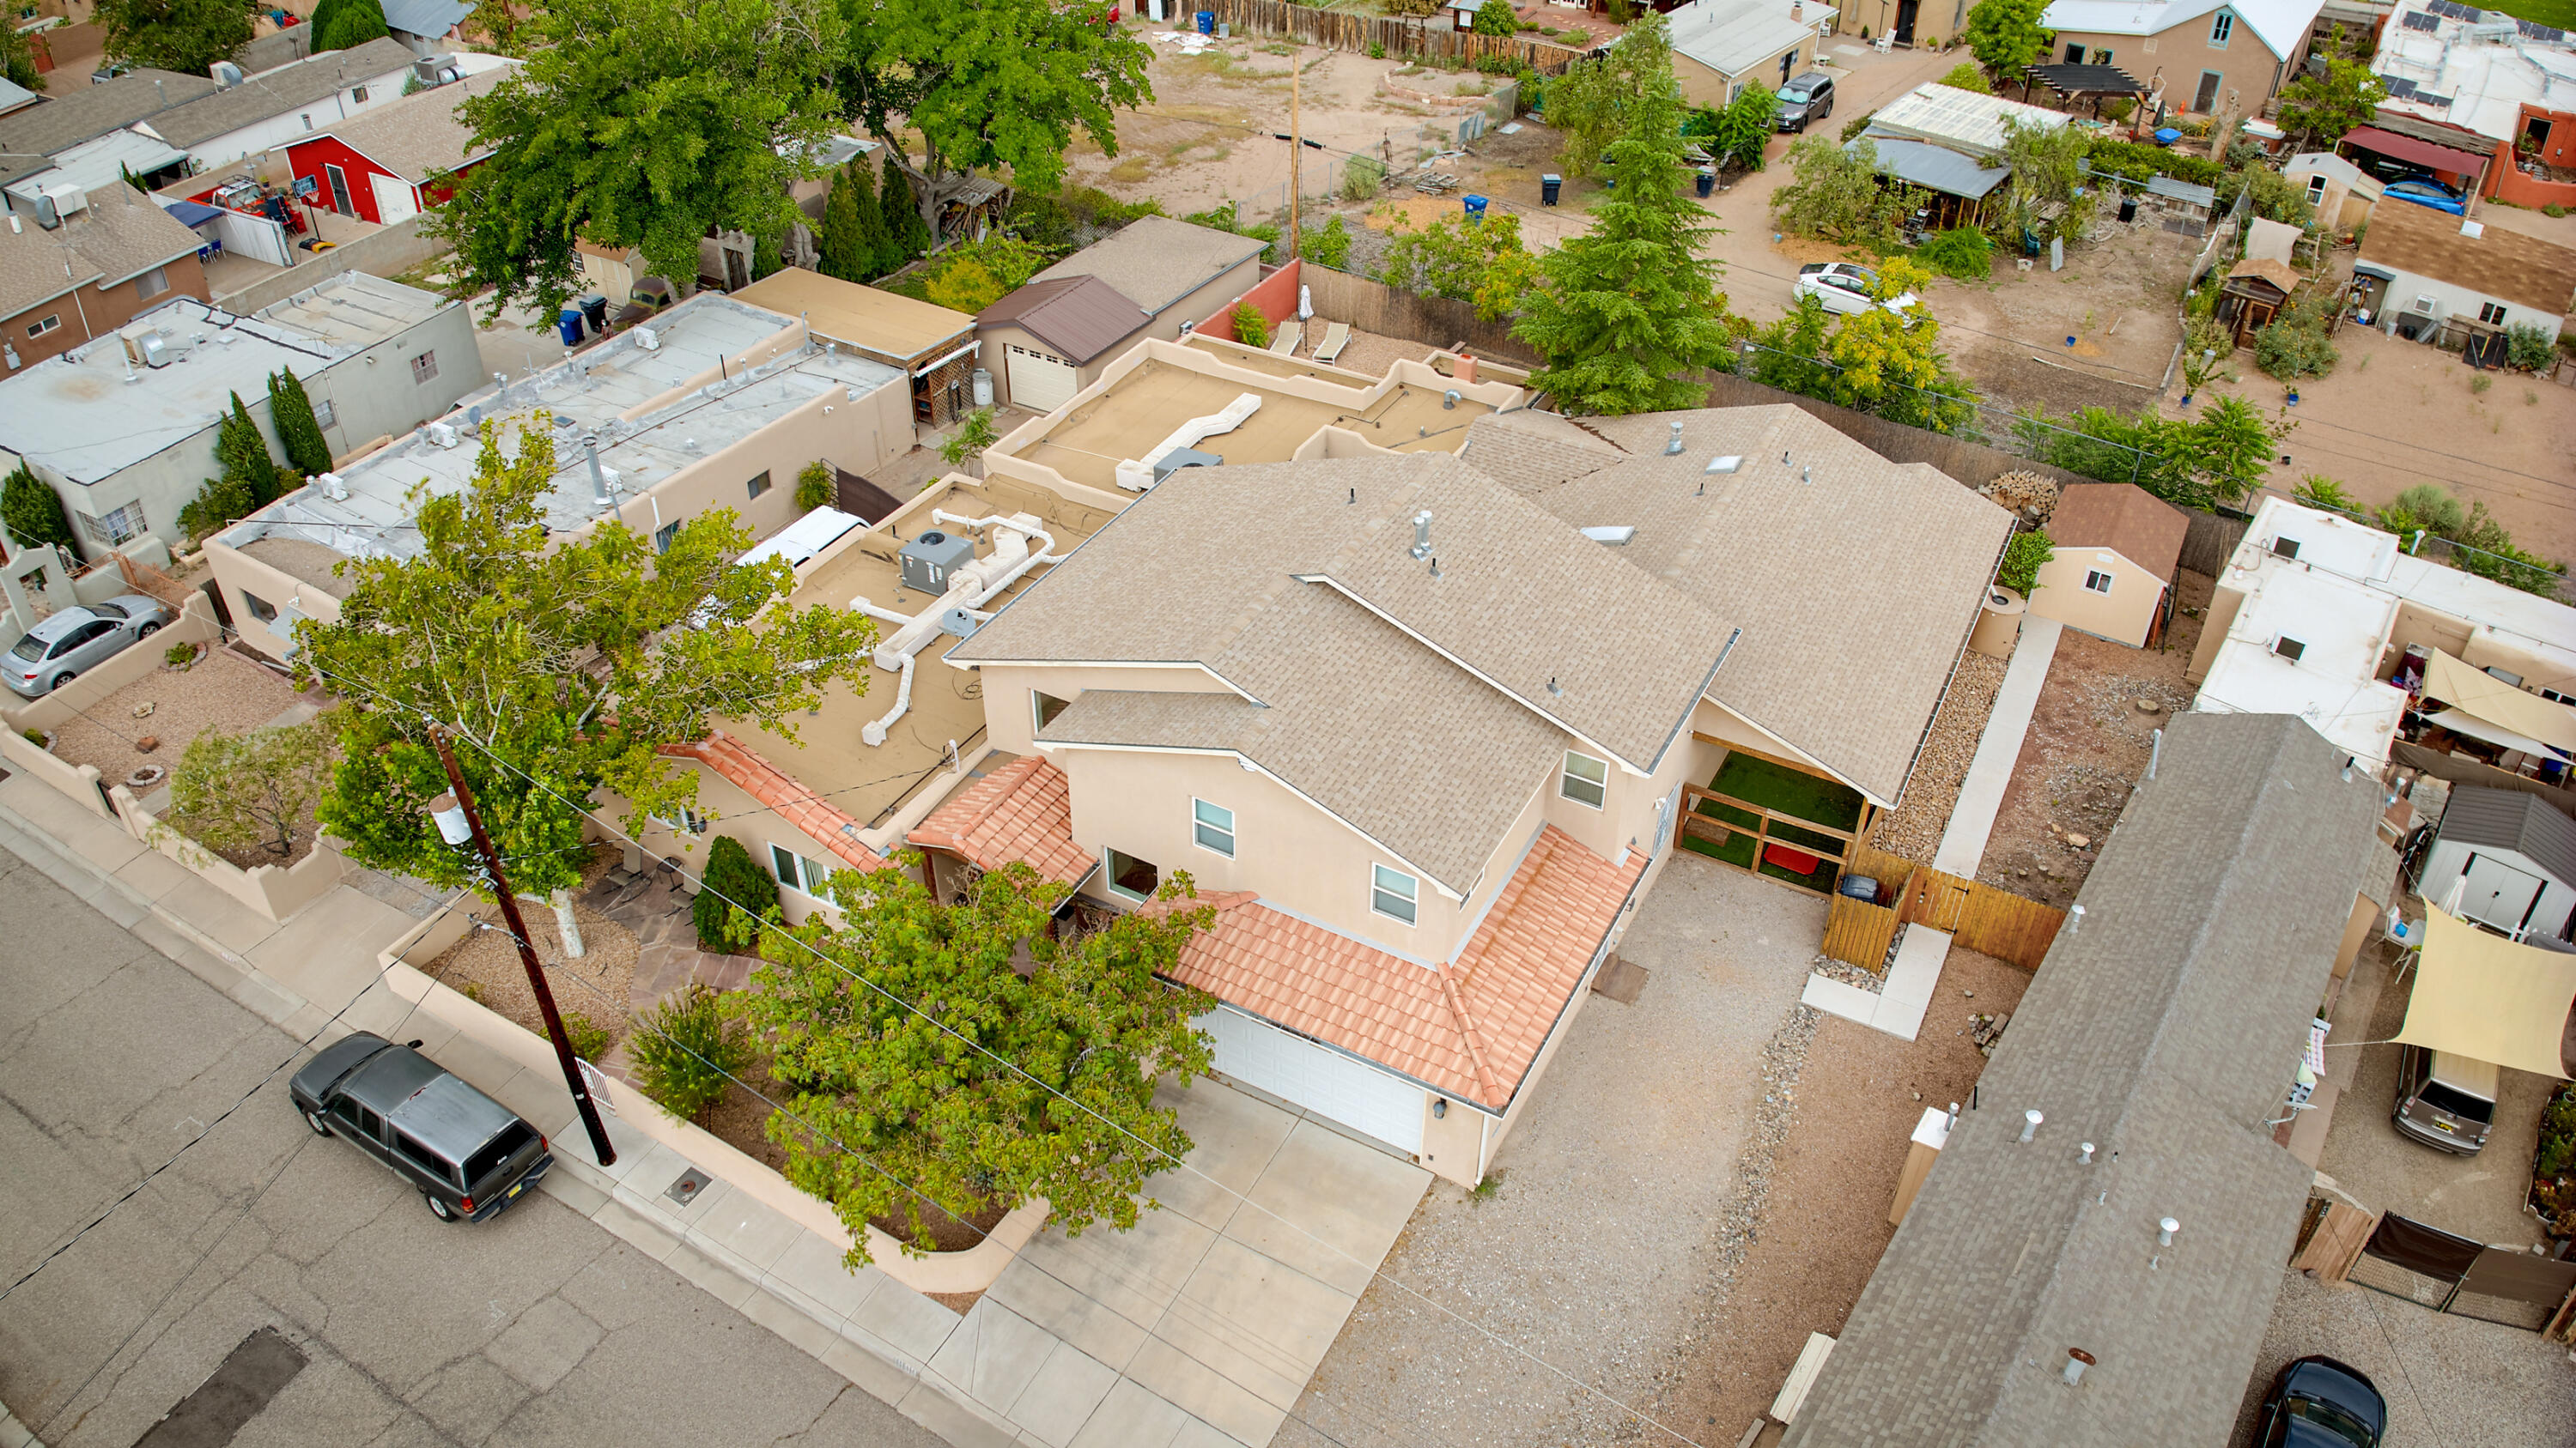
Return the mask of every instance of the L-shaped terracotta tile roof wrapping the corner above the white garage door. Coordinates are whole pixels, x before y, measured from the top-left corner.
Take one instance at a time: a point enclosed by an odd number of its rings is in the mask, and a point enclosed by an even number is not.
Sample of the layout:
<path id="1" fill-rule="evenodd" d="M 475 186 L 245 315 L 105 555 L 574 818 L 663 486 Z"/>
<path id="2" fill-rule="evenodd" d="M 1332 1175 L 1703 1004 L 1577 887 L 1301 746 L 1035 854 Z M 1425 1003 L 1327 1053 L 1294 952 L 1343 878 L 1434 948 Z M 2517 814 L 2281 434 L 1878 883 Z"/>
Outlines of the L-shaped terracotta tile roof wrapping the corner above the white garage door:
<path id="1" fill-rule="evenodd" d="M 1172 976 L 1502 1110 L 1643 873 L 1643 850 L 1620 868 L 1551 824 L 1445 969 L 1270 910 L 1249 891 L 1200 897 L 1216 925 L 1190 940 Z"/>

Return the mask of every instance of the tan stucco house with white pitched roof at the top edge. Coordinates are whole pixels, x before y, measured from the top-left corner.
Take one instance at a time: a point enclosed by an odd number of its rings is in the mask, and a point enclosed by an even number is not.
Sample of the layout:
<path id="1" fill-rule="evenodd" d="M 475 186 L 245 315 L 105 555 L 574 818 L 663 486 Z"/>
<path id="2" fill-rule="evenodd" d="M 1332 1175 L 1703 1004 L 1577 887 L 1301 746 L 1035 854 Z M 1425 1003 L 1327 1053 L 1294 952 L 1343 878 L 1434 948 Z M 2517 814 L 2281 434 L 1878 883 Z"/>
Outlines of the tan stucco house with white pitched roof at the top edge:
<path id="1" fill-rule="evenodd" d="M 2251 116 L 2298 72 L 2324 0 L 2053 0 L 2050 59 L 2117 64 L 2169 111 Z"/>

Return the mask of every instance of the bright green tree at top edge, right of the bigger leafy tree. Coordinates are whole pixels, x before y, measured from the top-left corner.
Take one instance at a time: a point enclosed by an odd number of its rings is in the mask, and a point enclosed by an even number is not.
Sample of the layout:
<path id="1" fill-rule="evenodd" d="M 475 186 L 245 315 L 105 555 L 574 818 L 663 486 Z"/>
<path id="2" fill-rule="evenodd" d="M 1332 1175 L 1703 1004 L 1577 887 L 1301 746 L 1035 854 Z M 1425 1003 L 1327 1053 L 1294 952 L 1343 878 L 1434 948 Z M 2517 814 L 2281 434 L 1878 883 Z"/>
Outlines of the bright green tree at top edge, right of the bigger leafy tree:
<path id="1" fill-rule="evenodd" d="M 1056 0 L 840 0 L 848 31 L 837 64 L 842 113 L 886 142 L 886 165 L 920 191 L 886 186 L 914 206 L 920 250 L 951 196 L 974 173 L 1054 186 L 1082 134 L 1118 155 L 1118 111 L 1154 98 L 1154 52 L 1100 8 Z M 896 116 L 902 121 L 896 124 Z M 907 149 L 920 142 L 920 155 Z M 902 240 L 909 240 L 907 229 Z M 914 250 L 912 255 L 920 255 Z"/>

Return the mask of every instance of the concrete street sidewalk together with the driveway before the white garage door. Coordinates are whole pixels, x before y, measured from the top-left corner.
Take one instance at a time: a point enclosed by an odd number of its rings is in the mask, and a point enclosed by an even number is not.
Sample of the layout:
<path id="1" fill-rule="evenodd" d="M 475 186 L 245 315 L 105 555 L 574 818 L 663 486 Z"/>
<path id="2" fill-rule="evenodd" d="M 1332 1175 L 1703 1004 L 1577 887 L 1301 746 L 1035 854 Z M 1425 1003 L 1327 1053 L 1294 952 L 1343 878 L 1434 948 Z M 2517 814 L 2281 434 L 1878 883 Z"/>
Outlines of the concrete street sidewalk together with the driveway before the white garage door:
<path id="1" fill-rule="evenodd" d="M 428 910 L 399 881 L 361 871 L 276 925 L 26 776 L 0 781 L 0 845 L 296 1036 L 420 1038 L 546 1126 L 544 1190 L 961 1448 L 1265 1448 L 1430 1185 L 1200 1082 L 1164 1098 L 1198 1149 L 1149 1183 L 1162 1211 L 1131 1232 L 1041 1232 L 961 1317 L 873 1265 L 845 1270 L 837 1242 L 626 1121 L 600 1167 L 541 1049 L 497 1051 L 384 979 L 379 953 Z M 657 1110 L 634 1092 L 616 1108 Z M 667 1188 L 693 1167 L 716 1180 L 683 1206 Z"/>

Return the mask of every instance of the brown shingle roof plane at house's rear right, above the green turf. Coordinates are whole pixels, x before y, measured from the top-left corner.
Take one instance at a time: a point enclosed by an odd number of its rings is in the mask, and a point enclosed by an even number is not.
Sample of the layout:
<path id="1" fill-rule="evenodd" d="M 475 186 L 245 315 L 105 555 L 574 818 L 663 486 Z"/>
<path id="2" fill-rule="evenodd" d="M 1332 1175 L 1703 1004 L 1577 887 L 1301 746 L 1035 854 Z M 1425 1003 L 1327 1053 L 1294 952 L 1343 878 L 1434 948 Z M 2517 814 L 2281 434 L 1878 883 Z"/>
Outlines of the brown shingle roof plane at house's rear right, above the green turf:
<path id="1" fill-rule="evenodd" d="M 1685 451 L 1662 456 L 1674 423 Z M 2012 515 L 1788 405 L 1592 428 L 1641 456 L 1551 490 L 1540 508 L 1579 528 L 1636 526 L 1628 546 L 1602 551 L 1744 626 L 1708 693 L 1893 806 Z M 1705 474 L 1723 453 L 1744 466 Z"/>

